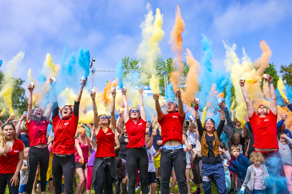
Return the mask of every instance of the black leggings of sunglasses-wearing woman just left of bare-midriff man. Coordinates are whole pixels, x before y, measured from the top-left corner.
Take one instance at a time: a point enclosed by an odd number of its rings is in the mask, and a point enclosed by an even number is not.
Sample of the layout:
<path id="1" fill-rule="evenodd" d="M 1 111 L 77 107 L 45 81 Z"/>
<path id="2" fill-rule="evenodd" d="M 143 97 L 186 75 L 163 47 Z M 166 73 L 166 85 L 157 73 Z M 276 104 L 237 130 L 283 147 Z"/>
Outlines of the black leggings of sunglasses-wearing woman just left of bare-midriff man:
<path id="1" fill-rule="evenodd" d="M 140 182 L 142 194 L 148 193 L 147 173 L 148 173 L 148 155 L 145 148 L 128 148 L 126 167 L 128 172 L 128 194 L 135 194 L 136 171 L 140 171 Z"/>

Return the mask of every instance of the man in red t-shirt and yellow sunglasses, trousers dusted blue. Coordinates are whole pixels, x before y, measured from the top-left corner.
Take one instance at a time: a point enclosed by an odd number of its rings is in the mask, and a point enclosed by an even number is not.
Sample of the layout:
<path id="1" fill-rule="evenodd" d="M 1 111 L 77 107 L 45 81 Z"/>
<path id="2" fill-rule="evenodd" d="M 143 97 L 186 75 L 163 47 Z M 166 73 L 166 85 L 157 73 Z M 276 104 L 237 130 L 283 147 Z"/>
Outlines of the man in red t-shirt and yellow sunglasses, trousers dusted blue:
<path id="1" fill-rule="evenodd" d="M 244 100 L 246 102 L 247 114 L 249 121 L 251 123 L 251 127 L 253 129 L 253 137 L 255 143 L 253 147 L 258 152 L 263 153 L 265 157 L 265 165 L 267 166 L 267 170 L 269 172 L 269 176 L 273 177 L 271 181 L 269 181 L 273 193 L 287 193 L 287 186 L 285 181 L 285 173 L 281 160 L 281 156 L 279 154 L 279 146 L 277 141 L 277 102 L 276 102 L 276 93 L 273 86 L 273 78 L 272 76 L 266 74 L 265 80 L 269 84 L 270 89 L 270 111 L 268 112 L 267 106 L 260 105 L 258 106 L 257 113 L 255 113 L 253 109 L 253 105 L 251 104 L 248 94 L 244 88 L 244 79 L 239 80 L 239 84 L 241 86 L 242 94 Z M 283 180 L 281 183 L 276 182 Z"/>

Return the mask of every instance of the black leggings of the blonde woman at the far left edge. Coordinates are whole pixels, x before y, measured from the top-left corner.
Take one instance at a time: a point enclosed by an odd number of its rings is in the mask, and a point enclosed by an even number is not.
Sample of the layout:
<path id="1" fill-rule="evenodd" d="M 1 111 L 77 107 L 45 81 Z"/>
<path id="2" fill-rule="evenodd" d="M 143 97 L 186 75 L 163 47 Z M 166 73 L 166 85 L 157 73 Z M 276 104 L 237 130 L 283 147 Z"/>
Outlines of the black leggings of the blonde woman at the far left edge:
<path id="1" fill-rule="evenodd" d="M 7 183 L 8 183 L 8 188 L 9 188 L 9 194 L 18 194 L 19 183 L 16 186 L 13 183 L 13 185 L 11 186 L 10 180 L 11 180 L 13 175 L 14 175 L 14 173 L 0 174 L 0 193 L 1 194 L 4 194 L 4 192 L 6 190 Z M 20 174 L 19 173 L 18 173 L 18 180 L 20 181 Z"/>

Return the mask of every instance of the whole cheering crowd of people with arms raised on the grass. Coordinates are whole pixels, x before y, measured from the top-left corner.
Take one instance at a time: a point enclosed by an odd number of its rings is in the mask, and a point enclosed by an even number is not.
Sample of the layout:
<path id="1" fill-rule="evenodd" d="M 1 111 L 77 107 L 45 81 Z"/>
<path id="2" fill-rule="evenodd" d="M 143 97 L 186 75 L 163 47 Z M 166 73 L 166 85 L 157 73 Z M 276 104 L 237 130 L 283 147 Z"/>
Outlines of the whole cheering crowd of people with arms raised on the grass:
<path id="1" fill-rule="evenodd" d="M 212 193 L 212 182 L 218 193 L 292 193 L 292 135 L 284 124 L 277 123 L 277 102 L 272 77 L 269 84 L 271 102 L 254 109 L 239 80 L 246 102 L 246 123 L 234 117 L 224 102 L 218 103 L 218 120 L 199 116 L 199 99 L 194 100 L 195 119 L 186 125 L 181 91 L 174 90 L 176 102 L 159 103 L 154 93 L 156 116 L 146 120 L 143 89 L 140 106 L 128 106 L 122 88 L 123 109 L 115 116 L 116 90 L 112 90 L 110 116 L 98 115 L 95 92 L 90 97 L 93 123 L 79 122 L 79 104 L 86 80 L 74 106 L 60 108 L 50 79 L 50 106 L 33 108 L 34 85 L 29 84 L 28 108 L 19 120 L 10 116 L 1 124 L 0 194 L 115 193 L 161 194 Z M 290 111 L 289 99 L 284 99 Z M 165 107 L 165 108 L 164 108 Z M 164 111 L 162 110 L 164 108 Z M 3 115 L 0 115 L 2 117 Z M 12 121 L 12 122 L 10 122 Z M 24 121 L 24 123 L 22 123 Z M 218 123 L 218 124 L 216 124 Z M 49 129 L 49 130 L 48 130 Z M 51 131 L 48 134 L 48 131 Z M 78 176 L 78 183 L 75 180 Z M 172 180 L 172 182 L 171 182 Z M 171 187 L 171 188 L 170 188 Z"/>

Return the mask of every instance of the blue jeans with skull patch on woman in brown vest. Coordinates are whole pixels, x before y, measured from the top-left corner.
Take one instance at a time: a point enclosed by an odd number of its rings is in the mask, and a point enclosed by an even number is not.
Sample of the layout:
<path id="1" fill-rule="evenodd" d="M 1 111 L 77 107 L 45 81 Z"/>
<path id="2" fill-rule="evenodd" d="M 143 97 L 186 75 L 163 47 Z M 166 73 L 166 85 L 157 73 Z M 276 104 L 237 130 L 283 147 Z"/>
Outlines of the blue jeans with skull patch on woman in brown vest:
<path id="1" fill-rule="evenodd" d="M 223 168 L 223 164 L 218 162 L 214 165 L 206 164 L 203 162 L 202 164 L 202 179 L 204 183 L 204 193 L 211 194 L 211 177 L 214 175 L 215 181 L 217 183 L 218 193 L 227 194 L 226 190 L 226 182 L 225 182 L 225 172 Z"/>

